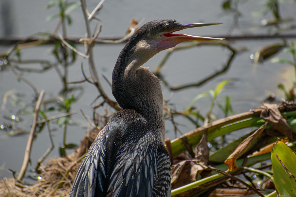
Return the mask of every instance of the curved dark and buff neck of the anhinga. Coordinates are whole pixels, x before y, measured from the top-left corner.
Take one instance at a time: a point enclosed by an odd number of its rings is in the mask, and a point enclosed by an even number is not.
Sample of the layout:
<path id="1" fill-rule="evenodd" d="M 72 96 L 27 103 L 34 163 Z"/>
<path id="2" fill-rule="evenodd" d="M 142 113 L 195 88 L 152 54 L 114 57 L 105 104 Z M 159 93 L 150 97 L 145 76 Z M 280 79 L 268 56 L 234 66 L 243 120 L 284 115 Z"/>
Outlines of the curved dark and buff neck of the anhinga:
<path id="1" fill-rule="evenodd" d="M 112 74 L 112 94 L 123 109 L 134 109 L 152 124 L 164 141 L 163 95 L 160 80 L 140 67 L 158 51 L 149 50 L 147 41 L 128 42 L 120 52 Z"/>

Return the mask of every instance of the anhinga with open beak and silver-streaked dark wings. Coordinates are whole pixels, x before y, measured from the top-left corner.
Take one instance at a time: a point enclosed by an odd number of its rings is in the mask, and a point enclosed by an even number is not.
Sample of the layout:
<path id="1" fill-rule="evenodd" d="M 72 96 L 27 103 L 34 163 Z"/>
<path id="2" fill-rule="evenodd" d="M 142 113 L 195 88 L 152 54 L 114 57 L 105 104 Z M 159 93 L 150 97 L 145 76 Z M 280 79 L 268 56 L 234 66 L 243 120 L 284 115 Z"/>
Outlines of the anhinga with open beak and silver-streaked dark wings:
<path id="1" fill-rule="evenodd" d="M 173 34 L 217 24 L 221 23 L 181 24 L 160 19 L 146 23 L 131 36 L 112 74 L 112 93 L 123 110 L 112 116 L 89 148 L 70 197 L 171 196 L 160 80 L 140 66 L 156 53 L 187 40 L 222 40 Z"/>

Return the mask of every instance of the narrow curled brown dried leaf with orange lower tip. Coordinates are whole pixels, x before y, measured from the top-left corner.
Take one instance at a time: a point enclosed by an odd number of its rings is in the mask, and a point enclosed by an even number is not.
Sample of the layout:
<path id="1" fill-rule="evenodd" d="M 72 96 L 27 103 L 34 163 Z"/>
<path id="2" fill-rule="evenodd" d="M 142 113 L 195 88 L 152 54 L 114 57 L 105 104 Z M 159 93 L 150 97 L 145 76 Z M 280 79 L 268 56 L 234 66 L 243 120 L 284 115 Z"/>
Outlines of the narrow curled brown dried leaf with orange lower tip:
<path id="1" fill-rule="evenodd" d="M 231 172 L 238 170 L 237 158 L 242 156 L 242 154 L 244 154 L 247 151 L 247 149 L 250 148 L 252 142 L 262 133 L 266 125 L 267 122 L 264 125 L 260 126 L 260 128 L 258 128 L 252 135 L 250 135 L 244 141 L 242 141 L 242 143 L 240 143 L 239 146 L 237 146 L 235 151 L 226 159 L 224 163 L 227 165 L 228 169 Z"/>

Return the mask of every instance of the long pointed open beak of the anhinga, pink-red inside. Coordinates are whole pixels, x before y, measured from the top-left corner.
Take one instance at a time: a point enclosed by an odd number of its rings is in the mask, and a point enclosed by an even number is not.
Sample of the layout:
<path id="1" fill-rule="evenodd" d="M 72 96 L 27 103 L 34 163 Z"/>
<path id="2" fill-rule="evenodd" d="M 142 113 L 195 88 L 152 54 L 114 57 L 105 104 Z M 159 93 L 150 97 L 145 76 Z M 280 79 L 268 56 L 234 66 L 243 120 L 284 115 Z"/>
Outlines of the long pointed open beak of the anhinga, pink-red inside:
<path id="1" fill-rule="evenodd" d="M 210 38 L 210 37 L 202 37 L 202 36 L 193 36 L 193 35 L 187 35 L 187 34 L 173 34 L 173 32 L 180 31 L 187 28 L 192 27 L 203 27 L 203 26 L 209 26 L 209 25 L 220 25 L 223 23 L 195 23 L 195 24 L 180 24 L 180 26 L 177 29 L 174 29 L 170 33 L 163 34 L 165 38 L 169 37 L 169 40 L 171 41 L 189 41 L 189 40 L 203 40 L 203 41 L 210 41 L 210 40 L 223 40 L 224 38 Z"/>

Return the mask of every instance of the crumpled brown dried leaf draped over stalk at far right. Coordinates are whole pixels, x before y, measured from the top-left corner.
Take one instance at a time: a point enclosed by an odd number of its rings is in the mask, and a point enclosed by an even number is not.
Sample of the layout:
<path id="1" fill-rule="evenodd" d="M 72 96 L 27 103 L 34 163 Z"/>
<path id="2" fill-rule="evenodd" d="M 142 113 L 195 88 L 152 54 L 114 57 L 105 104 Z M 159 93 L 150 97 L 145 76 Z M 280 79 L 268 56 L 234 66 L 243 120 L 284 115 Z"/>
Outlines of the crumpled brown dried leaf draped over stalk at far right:
<path id="1" fill-rule="evenodd" d="M 259 111 L 261 112 L 260 118 L 266 120 L 281 135 L 287 136 L 289 140 L 293 141 L 294 131 L 281 115 L 276 104 L 263 103 L 263 106 L 253 110 L 253 112 Z"/>

